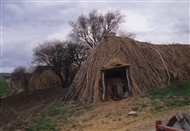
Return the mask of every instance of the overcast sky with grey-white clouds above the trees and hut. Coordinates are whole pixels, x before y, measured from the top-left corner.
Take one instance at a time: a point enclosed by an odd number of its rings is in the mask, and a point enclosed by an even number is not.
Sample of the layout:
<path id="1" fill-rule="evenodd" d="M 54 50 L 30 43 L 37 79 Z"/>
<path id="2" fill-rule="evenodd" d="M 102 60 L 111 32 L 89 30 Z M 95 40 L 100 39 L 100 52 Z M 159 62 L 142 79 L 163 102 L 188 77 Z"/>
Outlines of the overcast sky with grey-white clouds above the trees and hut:
<path id="1" fill-rule="evenodd" d="M 46 40 L 66 40 L 69 20 L 97 9 L 120 10 L 126 16 L 122 29 L 137 34 L 138 41 L 189 44 L 188 0 L 63 1 L 1 0 L 1 69 L 28 66 L 33 48 Z"/>

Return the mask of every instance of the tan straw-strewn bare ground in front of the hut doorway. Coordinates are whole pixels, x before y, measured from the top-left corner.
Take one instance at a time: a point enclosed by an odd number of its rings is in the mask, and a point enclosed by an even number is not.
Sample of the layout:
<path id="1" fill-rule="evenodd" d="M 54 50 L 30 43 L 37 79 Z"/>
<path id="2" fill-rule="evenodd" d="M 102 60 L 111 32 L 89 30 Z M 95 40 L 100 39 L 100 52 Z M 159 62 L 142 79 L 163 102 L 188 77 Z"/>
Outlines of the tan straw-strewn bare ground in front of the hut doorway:
<path id="1" fill-rule="evenodd" d="M 137 110 L 137 114 L 128 115 L 131 110 Z M 156 120 L 166 125 L 179 110 L 190 114 L 190 105 L 156 111 L 150 100 L 140 96 L 103 102 L 77 118 L 75 124 L 64 126 L 62 131 L 155 131 Z"/>

